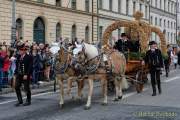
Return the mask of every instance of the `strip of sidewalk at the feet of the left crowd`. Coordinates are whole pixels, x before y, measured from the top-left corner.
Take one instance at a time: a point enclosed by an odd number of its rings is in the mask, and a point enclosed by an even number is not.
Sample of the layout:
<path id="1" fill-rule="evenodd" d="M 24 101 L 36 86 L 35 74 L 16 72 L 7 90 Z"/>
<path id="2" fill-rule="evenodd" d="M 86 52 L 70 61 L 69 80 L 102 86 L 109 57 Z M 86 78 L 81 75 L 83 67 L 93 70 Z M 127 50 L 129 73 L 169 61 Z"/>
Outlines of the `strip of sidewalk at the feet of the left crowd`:
<path id="1" fill-rule="evenodd" d="M 56 84 L 56 88 L 57 88 L 57 84 Z M 35 86 L 33 87 L 31 85 L 31 90 L 32 90 L 32 94 L 38 94 L 38 93 L 44 93 L 44 92 L 48 92 L 48 91 L 54 91 L 54 81 L 50 81 L 50 82 L 42 82 L 40 81 L 40 85 L 39 86 Z M 0 95 L 3 94 L 8 94 L 8 93 L 12 93 L 15 92 L 14 88 L 2 88 L 2 91 L 0 92 Z"/>

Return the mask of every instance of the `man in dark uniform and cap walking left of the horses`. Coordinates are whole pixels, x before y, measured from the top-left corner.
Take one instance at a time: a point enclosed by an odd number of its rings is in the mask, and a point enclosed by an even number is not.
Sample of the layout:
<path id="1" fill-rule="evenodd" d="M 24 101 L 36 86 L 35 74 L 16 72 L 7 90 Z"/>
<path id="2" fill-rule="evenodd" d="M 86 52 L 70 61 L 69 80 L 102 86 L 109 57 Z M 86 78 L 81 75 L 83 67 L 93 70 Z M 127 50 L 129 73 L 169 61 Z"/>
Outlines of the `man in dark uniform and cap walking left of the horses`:
<path id="1" fill-rule="evenodd" d="M 20 106 L 23 104 L 21 95 L 21 85 L 24 85 L 24 90 L 27 95 L 26 102 L 24 106 L 31 105 L 31 90 L 30 90 L 30 75 L 32 72 L 32 57 L 27 54 L 25 44 L 19 46 L 19 55 L 17 55 L 16 60 L 16 84 L 15 90 L 18 98 L 18 103 L 15 106 Z"/>

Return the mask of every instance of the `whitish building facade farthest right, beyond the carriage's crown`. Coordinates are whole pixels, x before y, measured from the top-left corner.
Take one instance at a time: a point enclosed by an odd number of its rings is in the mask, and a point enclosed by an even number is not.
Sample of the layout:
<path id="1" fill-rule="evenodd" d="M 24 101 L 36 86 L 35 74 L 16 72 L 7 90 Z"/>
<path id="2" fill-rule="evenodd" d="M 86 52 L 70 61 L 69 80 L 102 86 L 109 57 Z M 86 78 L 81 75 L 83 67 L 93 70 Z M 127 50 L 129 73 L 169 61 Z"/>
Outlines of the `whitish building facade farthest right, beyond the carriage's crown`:
<path id="1" fill-rule="evenodd" d="M 176 44 L 176 2 L 176 0 L 150 1 L 150 23 L 163 31 L 167 44 Z M 151 40 L 160 43 L 155 33 L 152 33 Z"/>

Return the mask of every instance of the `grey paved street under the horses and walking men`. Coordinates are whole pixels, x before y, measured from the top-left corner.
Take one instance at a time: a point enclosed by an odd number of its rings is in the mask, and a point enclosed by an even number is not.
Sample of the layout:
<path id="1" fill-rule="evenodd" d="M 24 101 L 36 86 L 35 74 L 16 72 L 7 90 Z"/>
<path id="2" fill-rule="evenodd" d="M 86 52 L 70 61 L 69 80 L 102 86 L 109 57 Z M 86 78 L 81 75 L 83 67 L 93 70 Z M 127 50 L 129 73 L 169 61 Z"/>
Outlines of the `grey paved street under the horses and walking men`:
<path id="1" fill-rule="evenodd" d="M 31 106 L 18 108 L 14 107 L 14 93 L 1 95 L 0 120 L 180 120 L 179 73 L 178 68 L 171 71 L 168 79 L 162 76 L 161 95 L 152 97 L 148 83 L 141 94 L 137 94 L 134 88 L 125 91 L 124 99 L 119 102 L 113 102 L 113 95 L 110 95 L 108 106 L 100 104 L 101 92 L 97 84 L 92 108 L 88 111 L 83 109 L 86 99 L 79 102 L 68 97 L 61 110 L 58 106 L 58 92 L 33 95 Z M 73 89 L 73 93 L 75 91 Z"/>

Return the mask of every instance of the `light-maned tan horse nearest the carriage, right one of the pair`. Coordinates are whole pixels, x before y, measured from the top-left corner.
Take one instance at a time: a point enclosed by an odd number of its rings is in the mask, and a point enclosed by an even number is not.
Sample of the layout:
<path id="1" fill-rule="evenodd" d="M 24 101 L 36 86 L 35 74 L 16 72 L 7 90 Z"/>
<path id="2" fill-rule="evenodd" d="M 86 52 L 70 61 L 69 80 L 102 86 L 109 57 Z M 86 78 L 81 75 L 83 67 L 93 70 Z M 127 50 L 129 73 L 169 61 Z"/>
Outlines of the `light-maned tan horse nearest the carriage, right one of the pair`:
<path id="1" fill-rule="evenodd" d="M 83 50 L 78 54 L 78 61 L 84 66 L 83 62 L 88 61 L 88 64 L 100 64 L 99 56 L 103 55 L 105 58 L 103 61 L 107 62 L 110 69 L 112 70 L 112 78 L 114 79 L 115 88 L 116 88 L 116 97 L 115 100 L 122 99 L 122 88 L 128 88 L 127 80 L 125 79 L 125 66 L 126 59 L 122 53 L 110 49 L 109 51 L 105 51 L 103 54 L 98 53 L 98 49 L 91 44 L 83 43 Z M 99 62 L 99 63 L 98 63 Z M 102 62 L 102 61 L 101 61 Z M 86 63 L 85 63 L 86 64 Z M 88 74 L 89 81 L 89 93 L 88 93 L 88 101 L 85 106 L 86 109 L 89 109 L 91 106 L 91 98 L 93 93 L 93 80 L 101 79 L 102 90 L 104 95 L 103 104 L 107 104 L 107 80 L 108 74 L 105 67 L 97 67 L 96 72 L 92 74 Z"/>

